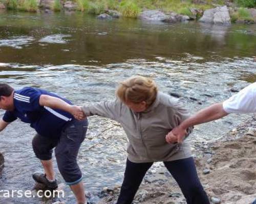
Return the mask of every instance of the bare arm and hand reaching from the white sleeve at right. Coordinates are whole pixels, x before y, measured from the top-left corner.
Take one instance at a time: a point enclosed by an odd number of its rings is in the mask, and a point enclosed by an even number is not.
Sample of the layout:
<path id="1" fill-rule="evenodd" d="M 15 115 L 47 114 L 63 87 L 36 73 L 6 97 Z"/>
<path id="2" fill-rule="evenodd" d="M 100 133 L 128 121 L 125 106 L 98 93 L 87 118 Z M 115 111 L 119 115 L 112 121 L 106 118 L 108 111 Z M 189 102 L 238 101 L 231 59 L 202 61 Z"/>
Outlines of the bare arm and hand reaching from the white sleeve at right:
<path id="1" fill-rule="evenodd" d="M 184 139 L 184 136 L 186 134 L 186 129 L 188 127 L 209 122 L 212 120 L 217 120 L 226 115 L 228 115 L 228 113 L 224 111 L 222 103 L 209 106 L 208 108 L 205 108 L 199 111 L 198 113 L 196 113 L 195 115 L 184 120 L 179 126 L 175 127 L 171 132 L 169 132 L 166 136 L 166 142 L 181 143 Z M 177 138 L 177 140 L 174 141 L 174 138 Z"/>

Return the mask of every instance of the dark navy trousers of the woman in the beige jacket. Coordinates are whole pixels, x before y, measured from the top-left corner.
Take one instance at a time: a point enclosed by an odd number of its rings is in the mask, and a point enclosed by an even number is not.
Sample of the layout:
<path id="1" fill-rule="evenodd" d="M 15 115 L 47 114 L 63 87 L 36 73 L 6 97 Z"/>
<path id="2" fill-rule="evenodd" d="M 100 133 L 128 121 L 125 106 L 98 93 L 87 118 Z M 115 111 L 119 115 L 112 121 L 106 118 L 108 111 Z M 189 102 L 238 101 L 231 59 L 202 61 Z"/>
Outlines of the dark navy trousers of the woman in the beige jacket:
<path id="1" fill-rule="evenodd" d="M 127 159 L 124 180 L 117 204 L 131 204 L 150 163 L 133 163 Z M 164 162 L 178 183 L 187 204 L 209 204 L 209 199 L 199 181 L 193 158 Z"/>

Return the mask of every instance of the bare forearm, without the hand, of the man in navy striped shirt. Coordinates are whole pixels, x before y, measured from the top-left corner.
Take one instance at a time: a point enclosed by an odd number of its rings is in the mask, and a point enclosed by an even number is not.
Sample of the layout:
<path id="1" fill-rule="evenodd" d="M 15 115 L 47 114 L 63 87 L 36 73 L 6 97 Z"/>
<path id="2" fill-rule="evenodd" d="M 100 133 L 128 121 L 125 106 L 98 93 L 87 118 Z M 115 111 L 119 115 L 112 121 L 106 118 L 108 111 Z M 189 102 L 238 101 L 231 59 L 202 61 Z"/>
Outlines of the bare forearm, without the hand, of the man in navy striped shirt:
<path id="1" fill-rule="evenodd" d="M 46 106 L 52 109 L 60 109 L 72 113 L 72 105 L 68 104 L 66 101 L 61 100 L 49 95 L 41 95 L 39 99 L 39 104 L 41 106 Z"/>

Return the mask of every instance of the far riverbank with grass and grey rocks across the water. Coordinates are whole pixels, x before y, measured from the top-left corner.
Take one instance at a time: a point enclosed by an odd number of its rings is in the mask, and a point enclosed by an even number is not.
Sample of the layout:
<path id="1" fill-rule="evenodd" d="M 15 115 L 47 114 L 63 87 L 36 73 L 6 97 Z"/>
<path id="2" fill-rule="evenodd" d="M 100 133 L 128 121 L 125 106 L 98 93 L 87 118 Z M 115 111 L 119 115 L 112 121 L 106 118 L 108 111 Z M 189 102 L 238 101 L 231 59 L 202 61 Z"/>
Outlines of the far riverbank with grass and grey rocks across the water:
<path id="1" fill-rule="evenodd" d="M 256 22 L 256 9 L 240 7 L 231 1 L 192 1 L 168 5 L 169 8 L 162 8 L 160 5 L 139 5 L 133 1 L 118 1 L 108 3 L 94 3 L 88 0 L 14 0 L 0 2 L 0 10 L 11 9 L 20 11 L 51 13 L 53 11 L 74 12 L 82 11 L 96 15 L 98 19 L 111 19 L 119 17 L 134 17 L 147 21 L 162 21 L 165 23 L 185 22 L 199 20 L 203 23 L 229 25 L 231 23 L 251 24 Z M 158 8 L 160 6 L 160 8 Z M 155 7 L 148 9 L 147 7 Z M 179 9 L 177 9 L 179 8 Z"/>

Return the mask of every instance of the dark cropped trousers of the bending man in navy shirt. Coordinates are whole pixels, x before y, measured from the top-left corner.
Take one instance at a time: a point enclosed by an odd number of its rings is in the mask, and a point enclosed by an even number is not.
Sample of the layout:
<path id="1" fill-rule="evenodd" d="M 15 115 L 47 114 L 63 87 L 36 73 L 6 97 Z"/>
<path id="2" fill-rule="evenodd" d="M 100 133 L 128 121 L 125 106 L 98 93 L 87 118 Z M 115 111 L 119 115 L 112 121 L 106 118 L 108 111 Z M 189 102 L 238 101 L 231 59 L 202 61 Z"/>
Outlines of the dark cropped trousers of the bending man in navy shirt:
<path id="1" fill-rule="evenodd" d="M 77 164 L 77 155 L 81 143 L 86 137 L 88 121 L 74 120 L 61 132 L 60 138 L 48 138 L 35 135 L 32 146 L 40 160 L 52 159 L 53 148 L 59 172 L 68 185 L 78 184 L 82 180 L 82 172 Z"/>

